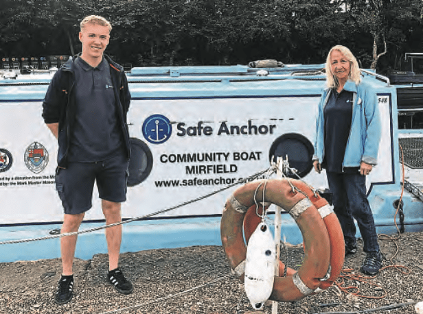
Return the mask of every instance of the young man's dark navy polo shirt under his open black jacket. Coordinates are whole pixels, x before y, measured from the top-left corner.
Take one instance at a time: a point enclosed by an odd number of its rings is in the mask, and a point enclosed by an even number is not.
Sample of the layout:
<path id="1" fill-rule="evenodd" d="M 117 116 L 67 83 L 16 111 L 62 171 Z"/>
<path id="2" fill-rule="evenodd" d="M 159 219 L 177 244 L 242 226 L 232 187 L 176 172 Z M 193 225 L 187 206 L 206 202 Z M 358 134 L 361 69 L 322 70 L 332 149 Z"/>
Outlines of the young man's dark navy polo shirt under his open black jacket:
<path id="1" fill-rule="evenodd" d="M 123 150 L 115 93 L 105 58 L 91 67 L 82 58 L 75 60 L 76 119 L 71 134 L 69 161 L 105 160 Z"/>

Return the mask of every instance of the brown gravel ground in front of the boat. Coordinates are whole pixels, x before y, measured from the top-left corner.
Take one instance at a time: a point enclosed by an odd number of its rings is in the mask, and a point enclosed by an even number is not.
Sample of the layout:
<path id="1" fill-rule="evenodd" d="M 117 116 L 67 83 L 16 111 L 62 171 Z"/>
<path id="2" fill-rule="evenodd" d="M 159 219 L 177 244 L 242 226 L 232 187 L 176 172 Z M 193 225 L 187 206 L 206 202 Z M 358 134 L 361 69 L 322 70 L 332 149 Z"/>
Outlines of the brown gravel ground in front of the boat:
<path id="1" fill-rule="evenodd" d="M 296 302 L 278 304 L 278 313 L 369 313 L 366 310 L 423 301 L 423 232 L 409 232 L 395 241 L 398 254 L 393 259 L 400 270 L 388 267 L 376 278 L 348 280 L 342 291 L 338 286 Z M 384 266 L 391 265 L 396 243 L 380 240 L 385 254 Z M 286 252 L 285 250 L 282 250 Z M 301 247 L 288 247 L 288 265 L 298 268 L 303 258 Z M 361 274 L 363 245 L 347 257 L 343 274 Z M 282 261 L 286 254 L 282 255 Z M 122 254 L 120 266 L 134 285 L 130 295 L 117 293 L 106 281 L 107 256 L 98 254 L 89 261 L 74 263 L 75 293 L 69 304 L 54 303 L 60 259 L 0 263 L 0 313 L 148 313 L 148 314 L 223 314 L 271 313 L 271 304 L 252 311 L 242 283 L 234 278 L 221 246 L 194 246 L 178 249 L 148 250 Z M 347 271 L 346 269 L 352 269 Z M 357 293 L 363 296 L 356 296 Z M 386 293 L 386 295 L 385 295 Z M 383 297 L 383 295 L 385 295 Z M 375 299 L 374 297 L 382 297 Z M 373 313 L 415 313 L 408 304 L 398 309 Z"/>

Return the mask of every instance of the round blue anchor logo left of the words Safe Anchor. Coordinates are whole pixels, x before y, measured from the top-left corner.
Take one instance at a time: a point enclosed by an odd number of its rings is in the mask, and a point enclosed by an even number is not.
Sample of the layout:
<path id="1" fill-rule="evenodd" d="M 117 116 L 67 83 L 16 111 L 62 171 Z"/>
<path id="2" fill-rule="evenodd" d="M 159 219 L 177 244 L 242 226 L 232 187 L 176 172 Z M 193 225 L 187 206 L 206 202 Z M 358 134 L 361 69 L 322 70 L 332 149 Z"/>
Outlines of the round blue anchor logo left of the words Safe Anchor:
<path id="1" fill-rule="evenodd" d="M 152 114 L 142 125 L 144 138 L 152 144 L 168 141 L 172 134 L 172 125 L 168 118 L 161 114 Z"/>

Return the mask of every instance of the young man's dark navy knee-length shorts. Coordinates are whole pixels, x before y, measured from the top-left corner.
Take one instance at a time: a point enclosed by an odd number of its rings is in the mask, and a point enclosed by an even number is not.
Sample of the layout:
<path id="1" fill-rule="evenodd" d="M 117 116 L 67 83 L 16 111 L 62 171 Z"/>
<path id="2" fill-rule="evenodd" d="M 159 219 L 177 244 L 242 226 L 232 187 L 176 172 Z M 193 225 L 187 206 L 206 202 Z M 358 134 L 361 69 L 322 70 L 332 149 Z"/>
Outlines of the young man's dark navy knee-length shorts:
<path id="1" fill-rule="evenodd" d="M 84 213 L 92 206 L 94 181 L 102 200 L 126 201 L 128 158 L 119 154 L 98 162 L 68 162 L 56 171 L 56 190 L 65 214 Z"/>

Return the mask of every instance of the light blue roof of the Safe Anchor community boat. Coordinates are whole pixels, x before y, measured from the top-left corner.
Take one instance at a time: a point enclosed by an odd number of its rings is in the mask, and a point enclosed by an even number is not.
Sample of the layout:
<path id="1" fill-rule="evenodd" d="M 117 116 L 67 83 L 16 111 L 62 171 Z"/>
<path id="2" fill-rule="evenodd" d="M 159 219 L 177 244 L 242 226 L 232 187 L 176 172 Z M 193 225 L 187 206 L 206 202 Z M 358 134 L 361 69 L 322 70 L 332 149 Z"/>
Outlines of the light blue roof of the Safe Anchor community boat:
<path id="1" fill-rule="evenodd" d="M 274 68 L 245 65 L 136 67 L 126 75 L 131 94 L 139 99 L 318 95 L 325 88 L 324 65 L 284 64 L 283 67 Z M 38 70 L 30 74 L 21 74 L 19 70 L 3 71 L 0 73 L 0 100 L 42 100 L 56 71 Z M 363 81 L 375 88 L 389 86 L 389 79 L 374 71 L 363 69 L 362 75 Z"/>

